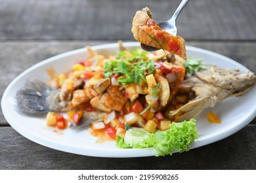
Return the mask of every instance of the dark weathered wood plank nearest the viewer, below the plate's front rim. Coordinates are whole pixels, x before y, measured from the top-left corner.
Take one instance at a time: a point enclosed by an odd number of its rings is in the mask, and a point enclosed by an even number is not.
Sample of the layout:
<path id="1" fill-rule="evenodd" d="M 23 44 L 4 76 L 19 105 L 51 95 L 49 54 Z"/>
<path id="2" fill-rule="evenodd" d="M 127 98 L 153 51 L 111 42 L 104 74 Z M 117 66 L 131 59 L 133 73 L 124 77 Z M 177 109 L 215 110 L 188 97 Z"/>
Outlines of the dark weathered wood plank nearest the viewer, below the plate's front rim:
<path id="1" fill-rule="evenodd" d="M 53 150 L 0 127 L 0 169 L 255 169 L 255 131 L 255 124 L 247 125 L 222 141 L 173 156 L 94 158 Z"/>

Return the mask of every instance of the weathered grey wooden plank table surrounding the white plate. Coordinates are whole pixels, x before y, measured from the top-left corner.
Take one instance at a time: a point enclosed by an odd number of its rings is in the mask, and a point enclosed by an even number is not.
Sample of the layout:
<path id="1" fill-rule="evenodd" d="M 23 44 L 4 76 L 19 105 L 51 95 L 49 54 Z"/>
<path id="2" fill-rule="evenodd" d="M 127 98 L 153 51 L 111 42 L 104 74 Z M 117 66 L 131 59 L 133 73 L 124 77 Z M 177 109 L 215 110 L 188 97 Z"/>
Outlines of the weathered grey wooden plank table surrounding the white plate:
<path id="1" fill-rule="evenodd" d="M 131 21 L 150 7 L 167 20 L 180 1 L 0 0 L 0 95 L 22 71 L 56 54 L 134 41 Z M 191 0 L 177 21 L 190 46 L 232 58 L 256 73 L 256 2 Z M 239 105 L 239 104 L 238 104 Z M 173 156 L 94 158 L 32 142 L 0 111 L 0 169 L 256 169 L 256 119 L 221 141 Z"/>

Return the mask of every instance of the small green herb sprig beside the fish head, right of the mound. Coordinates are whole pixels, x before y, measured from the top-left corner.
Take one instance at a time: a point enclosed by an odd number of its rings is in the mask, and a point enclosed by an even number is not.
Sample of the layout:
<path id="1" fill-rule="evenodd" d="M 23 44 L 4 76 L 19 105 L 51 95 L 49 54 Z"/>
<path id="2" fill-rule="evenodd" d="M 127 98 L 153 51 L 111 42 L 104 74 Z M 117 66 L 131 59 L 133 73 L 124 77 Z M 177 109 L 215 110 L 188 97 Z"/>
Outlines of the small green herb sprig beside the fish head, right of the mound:
<path id="1" fill-rule="evenodd" d="M 203 61 L 203 59 L 192 59 L 192 58 L 186 59 L 186 61 L 183 64 L 186 69 L 186 73 L 193 75 L 200 69 L 206 69 L 206 67 L 205 67 L 205 65 L 203 65 L 202 61 Z"/>

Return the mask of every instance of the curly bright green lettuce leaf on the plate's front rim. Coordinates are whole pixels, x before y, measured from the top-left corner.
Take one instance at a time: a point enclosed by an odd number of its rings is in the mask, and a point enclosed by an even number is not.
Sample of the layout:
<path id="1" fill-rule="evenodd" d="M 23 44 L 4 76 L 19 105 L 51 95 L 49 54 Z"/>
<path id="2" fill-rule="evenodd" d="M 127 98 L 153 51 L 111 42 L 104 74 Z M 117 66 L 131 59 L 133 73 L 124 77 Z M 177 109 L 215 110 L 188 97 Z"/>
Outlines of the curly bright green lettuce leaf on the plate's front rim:
<path id="1" fill-rule="evenodd" d="M 174 150 L 179 152 L 188 151 L 190 144 L 198 138 L 196 120 L 191 119 L 180 123 L 172 123 L 165 131 L 157 130 L 155 133 L 148 133 L 144 139 L 136 141 L 129 137 L 129 143 L 117 137 L 116 146 L 118 148 L 148 148 L 156 149 L 155 156 L 171 155 Z M 129 130 L 133 130 L 133 127 Z M 129 133 L 131 135 L 131 133 Z"/>

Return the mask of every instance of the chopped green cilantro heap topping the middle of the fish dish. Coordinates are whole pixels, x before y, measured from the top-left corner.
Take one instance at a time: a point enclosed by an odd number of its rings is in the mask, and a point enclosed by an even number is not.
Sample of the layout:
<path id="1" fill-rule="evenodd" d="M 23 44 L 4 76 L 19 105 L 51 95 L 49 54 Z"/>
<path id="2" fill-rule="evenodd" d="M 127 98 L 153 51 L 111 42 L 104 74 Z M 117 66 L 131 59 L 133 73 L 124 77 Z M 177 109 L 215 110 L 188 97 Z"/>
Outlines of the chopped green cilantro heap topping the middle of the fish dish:
<path id="1" fill-rule="evenodd" d="M 117 74 L 120 75 L 117 81 L 121 84 L 140 84 L 145 80 L 146 75 L 153 73 L 156 69 L 154 60 L 148 60 L 147 54 L 139 49 L 132 50 L 129 54 L 125 51 L 119 52 L 116 59 L 108 60 L 104 64 L 104 77 L 110 78 Z"/>

